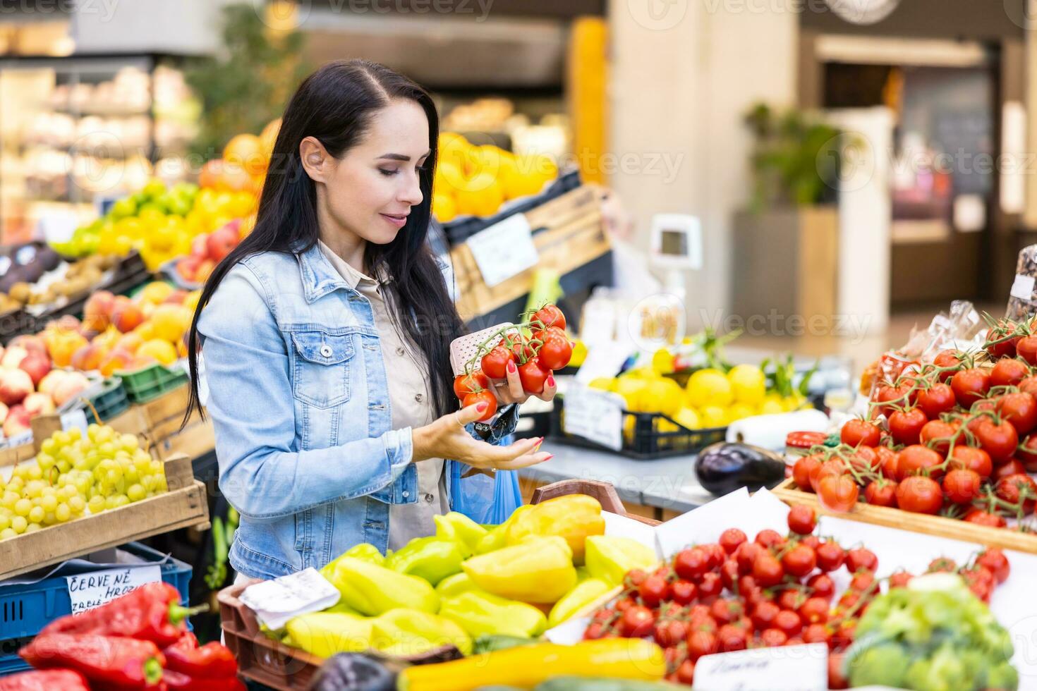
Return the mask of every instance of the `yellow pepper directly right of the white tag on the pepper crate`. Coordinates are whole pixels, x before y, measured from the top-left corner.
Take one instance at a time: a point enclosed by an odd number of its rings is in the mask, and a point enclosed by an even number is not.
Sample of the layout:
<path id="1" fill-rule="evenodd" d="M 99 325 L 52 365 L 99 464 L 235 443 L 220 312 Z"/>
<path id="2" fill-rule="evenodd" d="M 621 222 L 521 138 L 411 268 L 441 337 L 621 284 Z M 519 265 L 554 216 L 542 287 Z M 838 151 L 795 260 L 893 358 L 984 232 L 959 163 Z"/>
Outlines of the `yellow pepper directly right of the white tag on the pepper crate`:
<path id="1" fill-rule="evenodd" d="M 336 562 L 329 580 L 338 588 L 342 602 L 359 612 L 373 616 L 399 607 L 426 612 L 440 608 L 440 597 L 424 578 L 349 556 Z"/>

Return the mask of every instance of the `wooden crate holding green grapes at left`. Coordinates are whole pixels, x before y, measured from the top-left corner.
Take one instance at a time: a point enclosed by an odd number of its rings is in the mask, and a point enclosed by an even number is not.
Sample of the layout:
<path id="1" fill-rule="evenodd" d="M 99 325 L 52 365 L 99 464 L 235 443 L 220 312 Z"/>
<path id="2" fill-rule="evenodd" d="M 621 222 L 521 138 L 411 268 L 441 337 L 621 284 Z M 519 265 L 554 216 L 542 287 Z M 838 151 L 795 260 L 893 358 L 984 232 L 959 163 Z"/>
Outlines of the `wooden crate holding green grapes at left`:
<path id="1" fill-rule="evenodd" d="M 177 528 L 208 528 L 205 486 L 195 480 L 191 459 L 166 460 L 166 483 L 169 491 L 150 499 L 0 542 L 0 580 Z"/>

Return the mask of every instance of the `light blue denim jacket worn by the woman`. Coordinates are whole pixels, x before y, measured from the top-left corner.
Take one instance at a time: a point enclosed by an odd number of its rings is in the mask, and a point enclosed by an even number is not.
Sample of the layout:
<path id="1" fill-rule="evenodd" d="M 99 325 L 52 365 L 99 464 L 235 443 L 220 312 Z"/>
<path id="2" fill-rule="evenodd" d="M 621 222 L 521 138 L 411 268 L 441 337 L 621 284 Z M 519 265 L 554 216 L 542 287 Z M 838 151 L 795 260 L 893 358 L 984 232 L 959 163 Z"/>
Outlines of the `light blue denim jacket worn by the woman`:
<path id="1" fill-rule="evenodd" d="M 389 505 L 417 501 L 418 486 L 411 429 L 392 429 L 367 298 L 317 247 L 267 252 L 227 273 L 198 330 L 220 490 L 242 517 L 231 566 L 273 578 L 361 542 L 384 551 Z M 477 480 L 459 481 L 456 466 L 444 468 L 451 499 Z"/>

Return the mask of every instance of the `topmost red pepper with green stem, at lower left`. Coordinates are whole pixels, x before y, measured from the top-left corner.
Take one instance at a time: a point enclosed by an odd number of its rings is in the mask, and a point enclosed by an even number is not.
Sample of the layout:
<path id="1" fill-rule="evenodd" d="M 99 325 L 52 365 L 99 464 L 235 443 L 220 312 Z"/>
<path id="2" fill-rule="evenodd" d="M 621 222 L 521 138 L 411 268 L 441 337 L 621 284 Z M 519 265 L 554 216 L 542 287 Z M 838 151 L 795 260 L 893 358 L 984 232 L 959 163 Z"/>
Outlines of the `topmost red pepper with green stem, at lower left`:
<path id="1" fill-rule="evenodd" d="M 39 635 L 95 634 L 149 640 L 160 649 L 187 632 L 187 617 L 202 608 L 180 607 L 180 594 L 169 583 L 145 583 L 135 591 L 77 614 L 62 616 Z"/>

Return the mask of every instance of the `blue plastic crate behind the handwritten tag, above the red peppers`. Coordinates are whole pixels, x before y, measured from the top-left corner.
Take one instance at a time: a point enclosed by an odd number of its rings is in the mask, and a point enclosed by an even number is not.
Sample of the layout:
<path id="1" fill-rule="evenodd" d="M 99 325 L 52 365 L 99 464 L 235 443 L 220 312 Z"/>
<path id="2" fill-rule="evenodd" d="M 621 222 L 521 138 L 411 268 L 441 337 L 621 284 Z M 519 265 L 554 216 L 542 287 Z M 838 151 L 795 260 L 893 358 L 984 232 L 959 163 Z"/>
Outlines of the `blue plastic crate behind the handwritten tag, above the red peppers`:
<path id="1" fill-rule="evenodd" d="M 135 556 L 162 564 L 162 580 L 180 593 L 180 601 L 188 602 L 192 568 L 190 565 L 166 558 L 162 552 L 146 545 L 132 542 L 119 549 Z M 45 578 L 24 585 L 4 585 L 0 582 L 0 676 L 27 669 L 18 657 L 22 645 L 54 620 L 72 613 L 67 582 L 63 576 Z"/>

